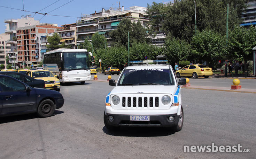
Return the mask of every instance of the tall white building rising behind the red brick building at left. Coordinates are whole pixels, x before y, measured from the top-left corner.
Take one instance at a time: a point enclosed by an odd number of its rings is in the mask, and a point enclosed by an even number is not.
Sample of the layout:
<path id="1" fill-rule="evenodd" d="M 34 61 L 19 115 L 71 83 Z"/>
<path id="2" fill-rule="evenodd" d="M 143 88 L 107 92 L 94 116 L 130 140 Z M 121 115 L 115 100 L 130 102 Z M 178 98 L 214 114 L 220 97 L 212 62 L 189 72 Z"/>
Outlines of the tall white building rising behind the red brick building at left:
<path id="1" fill-rule="evenodd" d="M 31 15 L 22 16 L 20 19 L 6 19 L 5 33 L 9 35 L 7 44 L 10 45 L 10 50 L 7 50 L 6 54 L 9 56 L 9 63 L 12 66 L 17 66 L 17 38 L 16 38 L 16 28 L 25 27 L 39 24 L 38 20 L 30 17 Z"/>

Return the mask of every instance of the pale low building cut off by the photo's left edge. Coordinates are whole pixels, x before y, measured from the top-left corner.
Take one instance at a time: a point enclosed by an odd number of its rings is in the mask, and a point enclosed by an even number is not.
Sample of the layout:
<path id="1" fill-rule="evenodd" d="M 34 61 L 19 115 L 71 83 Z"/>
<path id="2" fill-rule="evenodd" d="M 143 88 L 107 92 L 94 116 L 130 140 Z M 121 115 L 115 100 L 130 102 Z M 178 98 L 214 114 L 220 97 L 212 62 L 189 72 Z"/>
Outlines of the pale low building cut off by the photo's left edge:
<path id="1" fill-rule="evenodd" d="M 5 65 L 6 68 L 6 52 L 10 51 L 10 44 L 6 41 L 10 39 L 9 34 L 0 34 L 0 65 Z"/>

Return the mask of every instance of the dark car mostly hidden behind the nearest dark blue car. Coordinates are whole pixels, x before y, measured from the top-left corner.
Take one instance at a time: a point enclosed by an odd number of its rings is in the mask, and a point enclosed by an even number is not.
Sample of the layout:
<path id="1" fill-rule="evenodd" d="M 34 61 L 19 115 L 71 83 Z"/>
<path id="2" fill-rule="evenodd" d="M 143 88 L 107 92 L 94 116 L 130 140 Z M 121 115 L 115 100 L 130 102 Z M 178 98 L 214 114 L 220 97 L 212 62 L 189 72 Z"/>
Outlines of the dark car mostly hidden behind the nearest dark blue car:
<path id="1" fill-rule="evenodd" d="M 45 88 L 44 80 L 34 79 L 23 73 L 5 71 L 5 72 L 0 72 L 0 74 L 5 74 L 7 76 L 14 77 L 17 80 L 20 80 L 31 87 Z"/>

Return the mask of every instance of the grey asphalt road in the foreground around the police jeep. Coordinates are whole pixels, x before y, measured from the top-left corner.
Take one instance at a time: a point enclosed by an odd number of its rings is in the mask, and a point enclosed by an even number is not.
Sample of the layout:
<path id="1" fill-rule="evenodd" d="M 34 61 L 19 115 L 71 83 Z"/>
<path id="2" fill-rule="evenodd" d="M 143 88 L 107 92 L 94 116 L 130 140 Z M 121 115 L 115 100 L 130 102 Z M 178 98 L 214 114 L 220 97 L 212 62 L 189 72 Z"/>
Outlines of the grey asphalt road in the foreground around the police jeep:
<path id="1" fill-rule="evenodd" d="M 115 76 L 115 75 L 114 75 Z M 61 86 L 64 106 L 48 118 L 0 118 L 0 158 L 255 158 L 255 94 L 181 89 L 184 125 L 104 127 L 106 95 L 113 86 L 89 81 Z M 184 152 L 184 145 L 237 145 L 250 152 Z"/>

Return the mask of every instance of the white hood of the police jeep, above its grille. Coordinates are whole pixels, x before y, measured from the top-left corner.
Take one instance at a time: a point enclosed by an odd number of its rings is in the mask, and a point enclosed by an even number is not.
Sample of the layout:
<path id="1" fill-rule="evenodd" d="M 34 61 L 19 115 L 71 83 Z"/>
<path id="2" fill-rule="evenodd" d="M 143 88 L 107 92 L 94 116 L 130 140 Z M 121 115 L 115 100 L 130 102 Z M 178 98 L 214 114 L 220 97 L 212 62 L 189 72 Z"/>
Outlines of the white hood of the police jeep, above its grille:
<path id="1" fill-rule="evenodd" d="M 146 86 L 116 86 L 110 94 L 171 94 L 174 95 L 177 86 L 146 85 Z"/>

